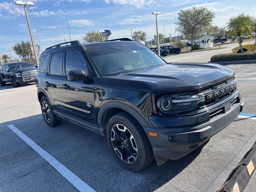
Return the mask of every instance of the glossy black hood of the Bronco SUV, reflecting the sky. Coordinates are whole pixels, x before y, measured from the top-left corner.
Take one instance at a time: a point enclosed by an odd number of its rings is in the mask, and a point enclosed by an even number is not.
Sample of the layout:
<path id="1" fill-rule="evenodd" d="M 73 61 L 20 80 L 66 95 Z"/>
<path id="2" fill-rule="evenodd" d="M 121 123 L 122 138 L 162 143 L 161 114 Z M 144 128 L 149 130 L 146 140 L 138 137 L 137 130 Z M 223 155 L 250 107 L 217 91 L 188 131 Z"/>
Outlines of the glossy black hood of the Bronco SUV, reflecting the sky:
<path id="1" fill-rule="evenodd" d="M 100 78 L 102 86 L 143 92 L 166 92 L 200 88 L 234 75 L 219 64 L 173 63 L 137 72 Z"/>

